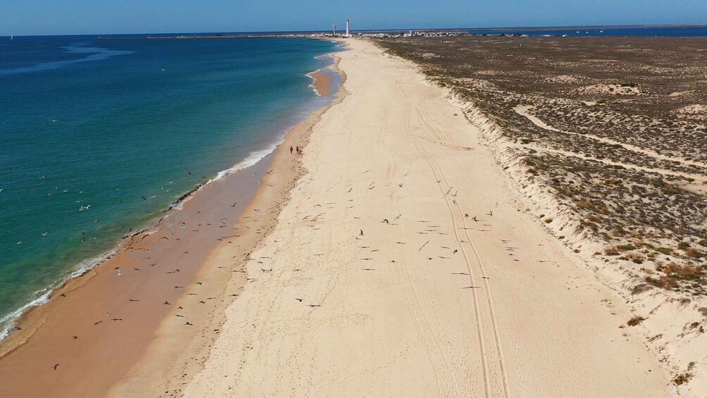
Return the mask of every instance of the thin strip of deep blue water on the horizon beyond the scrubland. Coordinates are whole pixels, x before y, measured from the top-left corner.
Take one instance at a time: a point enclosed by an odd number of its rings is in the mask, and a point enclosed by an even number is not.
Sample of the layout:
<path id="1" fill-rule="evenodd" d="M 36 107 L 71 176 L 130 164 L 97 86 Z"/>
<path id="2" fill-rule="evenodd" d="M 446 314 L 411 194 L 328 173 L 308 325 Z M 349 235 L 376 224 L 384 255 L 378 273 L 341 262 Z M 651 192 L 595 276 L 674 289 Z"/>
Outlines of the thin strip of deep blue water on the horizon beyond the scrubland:
<path id="1" fill-rule="evenodd" d="M 477 35 L 529 35 L 529 36 L 648 36 L 648 37 L 700 37 L 707 36 L 707 26 L 648 26 L 635 28 L 496 28 L 471 29 Z"/>

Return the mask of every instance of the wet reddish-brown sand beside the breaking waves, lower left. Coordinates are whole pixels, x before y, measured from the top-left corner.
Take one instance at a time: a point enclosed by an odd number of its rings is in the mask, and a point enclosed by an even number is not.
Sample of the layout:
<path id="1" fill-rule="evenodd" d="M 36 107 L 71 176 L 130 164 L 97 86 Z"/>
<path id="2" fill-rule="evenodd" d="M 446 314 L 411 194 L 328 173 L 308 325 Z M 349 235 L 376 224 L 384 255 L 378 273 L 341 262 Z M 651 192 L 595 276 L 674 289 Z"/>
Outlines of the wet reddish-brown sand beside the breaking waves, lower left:
<path id="1" fill-rule="evenodd" d="M 166 360 L 194 348 L 196 336 L 208 341 L 214 310 L 246 283 L 239 271 L 247 254 L 272 228 L 302 172 L 288 148 L 303 146 L 321 112 L 288 132 L 274 153 L 207 185 L 153 233 L 135 235 L 114 257 L 23 315 L 0 346 L 3 395 L 105 396 L 129 373 L 139 378 L 136 365 L 150 363 L 146 352 L 160 353 L 164 371 Z M 240 257 L 214 257 L 226 246 L 237 247 Z M 156 340 L 170 349 L 152 347 Z"/>

